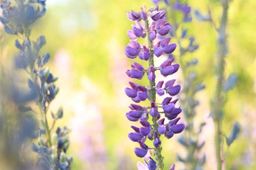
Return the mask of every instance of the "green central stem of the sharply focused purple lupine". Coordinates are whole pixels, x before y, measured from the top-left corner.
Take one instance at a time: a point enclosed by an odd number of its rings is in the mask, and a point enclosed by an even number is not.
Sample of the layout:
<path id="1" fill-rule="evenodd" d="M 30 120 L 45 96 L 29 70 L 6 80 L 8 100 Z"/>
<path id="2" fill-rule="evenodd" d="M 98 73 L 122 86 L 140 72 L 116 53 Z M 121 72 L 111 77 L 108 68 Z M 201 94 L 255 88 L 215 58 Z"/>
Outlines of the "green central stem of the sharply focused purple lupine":
<path id="1" fill-rule="evenodd" d="M 145 11 L 146 11 L 146 7 L 144 6 Z M 150 59 L 148 60 L 148 65 L 149 67 L 152 66 L 154 67 L 154 50 L 153 50 L 153 42 L 150 39 L 150 25 L 148 22 L 148 18 L 145 20 L 145 26 L 146 26 L 146 34 L 148 37 L 148 48 L 150 49 Z M 155 72 L 155 71 L 153 71 Z M 150 94 L 150 101 L 156 103 L 156 81 L 150 81 L 150 90 L 149 90 L 149 94 Z M 157 123 L 157 117 L 153 117 L 152 118 L 152 122 L 153 122 L 153 129 L 155 132 L 158 132 L 158 123 Z M 158 138 L 160 139 L 160 134 L 158 133 Z M 156 161 L 158 162 L 158 169 L 162 170 L 164 169 L 164 157 L 162 157 L 161 154 L 162 151 L 162 146 L 158 146 L 157 148 L 154 148 L 154 155 L 156 157 Z"/>

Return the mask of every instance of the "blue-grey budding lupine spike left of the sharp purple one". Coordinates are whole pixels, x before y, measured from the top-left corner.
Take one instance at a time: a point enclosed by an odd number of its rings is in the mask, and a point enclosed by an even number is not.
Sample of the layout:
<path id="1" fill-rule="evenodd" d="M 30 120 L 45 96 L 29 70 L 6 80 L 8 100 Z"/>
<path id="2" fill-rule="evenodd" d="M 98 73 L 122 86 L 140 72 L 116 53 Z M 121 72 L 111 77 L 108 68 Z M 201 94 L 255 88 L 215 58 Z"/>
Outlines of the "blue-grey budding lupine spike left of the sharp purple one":
<path id="1" fill-rule="evenodd" d="M 59 108 L 56 114 L 49 109 L 51 101 L 59 92 L 55 86 L 57 77 L 45 68 L 50 60 L 50 54 L 40 54 L 46 40 L 40 36 L 36 41 L 31 39 L 31 26 L 46 12 L 44 0 L 30 1 L 3 1 L 1 3 L 1 22 L 7 34 L 16 35 L 15 46 L 20 50 L 15 57 L 15 68 L 23 69 L 28 73 L 28 87 L 30 93 L 26 96 L 15 96 L 20 101 L 22 112 L 34 112 L 40 116 L 40 128 L 36 134 L 38 141 L 32 143 L 32 151 L 38 153 L 36 169 L 71 169 L 72 157 L 67 157 L 69 147 L 69 129 L 67 127 L 55 128 L 57 120 L 63 117 L 63 109 Z M 23 102 L 32 99 L 34 105 L 27 106 Z M 53 124 L 49 124 L 47 116 L 51 114 Z M 28 124 L 25 124 L 28 126 Z"/>

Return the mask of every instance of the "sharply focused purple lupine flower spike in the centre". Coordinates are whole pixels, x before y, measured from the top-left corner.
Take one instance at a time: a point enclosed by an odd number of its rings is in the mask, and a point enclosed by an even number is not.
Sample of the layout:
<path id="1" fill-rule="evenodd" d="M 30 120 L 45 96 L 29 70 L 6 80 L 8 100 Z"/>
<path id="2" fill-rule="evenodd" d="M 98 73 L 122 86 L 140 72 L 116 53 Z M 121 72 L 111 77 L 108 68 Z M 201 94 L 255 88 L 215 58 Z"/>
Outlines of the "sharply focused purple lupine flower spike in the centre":
<path id="1" fill-rule="evenodd" d="M 150 10 L 141 7 L 140 12 L 131 11 L 127 14 L 127 17 L 135 21 L 136 26 L 128 31 L 131 41 L 125 48 L 125 54 L 131 59 L 139 55 L 141 62 L 148 61 L 148 69 L 144 69 L 137 62 L 133 62 L 131 69 L 127 71 L 127 75 L 133 79 L 142 79 L 146 73 L 149 85 L 146 88 L 129 82 L 131 88 L 127 87 L 125 93 L 136 103 L 146 99 L 150 101 L 150 105 L 147 107 L 135 104 L 131 104 L 129 107 L 131 110 L 126 114 L 128 120 L 132 122 L 139 121 L 142 127 L 131 126 L 135 132 L 129 133 L 128 136 L 133 142 L 139 144 L 139 147 L 134 150 L 137 157 L 145 157 L 148 152 L 153 150 L 154 157 L 150 157 L 149 162 L 146 163 L 148 169 L 158 168 L 162 170 L 164 169 L 164 158 L 161 153 L 161 137 L 171 138 L 174 134 L 182 132 L 185 125 L 177 124 L 180 120 L 177 116 L 181 113 L 181 108 L 176 108 L 177 99 L 172 99 L 179 93 L 181 86 L 174 85 L 174 79 L 166 81 L 166 83 L 159 81 L 156 84 L 156 71 L 159 71 L 164 77 L 171 77 L 173 73 L 178 71 L 179 65 L 173 64 L 174 58 L 170 58 L 164 61 L 160 67 L 156 67 L 154 58 L 163 54 L 171 54 L 177 46 L 173 43 L 170 44 L 170 37 L 164 37 L 169 35 L 170 24 L 166 22 L 165 11 L 159 10 L 158 6 Z M 139 37 L 146 38 L 148 44 L 141 45 L 135 41 Z M 160 40 L 157 40 L 158 37 Z M 156 94 L 162 96 L 164 93 L 172 97 L 164 98 L 162 104 L 156 103 Z M 145 144 L 147 138 L 152 140 L 152 146 L 150 147 Z M 174 167 L 171 169 L 174 169 Z"/>

